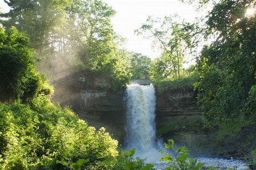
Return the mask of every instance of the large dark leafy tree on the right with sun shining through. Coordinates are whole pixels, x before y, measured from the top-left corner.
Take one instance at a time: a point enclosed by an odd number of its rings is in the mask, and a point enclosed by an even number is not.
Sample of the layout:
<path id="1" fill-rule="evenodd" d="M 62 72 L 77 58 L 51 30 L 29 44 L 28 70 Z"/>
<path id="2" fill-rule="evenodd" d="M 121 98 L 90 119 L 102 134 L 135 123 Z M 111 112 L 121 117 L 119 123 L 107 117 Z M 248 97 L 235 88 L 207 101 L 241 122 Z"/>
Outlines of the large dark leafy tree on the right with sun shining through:
<path id="1" fill-rule="evenodd" d="M 203 5 L 203 2 L 202 2 Z M 197 62 L 200 81 L 195 88 L 202 93 L 203 116 L 209 121 L 255 119 L 256 84 L 255 12 L 246 11 L 255 1 L 219 1 L 209 12 L 206 26 L 215 40 L 205 45 Z"/>

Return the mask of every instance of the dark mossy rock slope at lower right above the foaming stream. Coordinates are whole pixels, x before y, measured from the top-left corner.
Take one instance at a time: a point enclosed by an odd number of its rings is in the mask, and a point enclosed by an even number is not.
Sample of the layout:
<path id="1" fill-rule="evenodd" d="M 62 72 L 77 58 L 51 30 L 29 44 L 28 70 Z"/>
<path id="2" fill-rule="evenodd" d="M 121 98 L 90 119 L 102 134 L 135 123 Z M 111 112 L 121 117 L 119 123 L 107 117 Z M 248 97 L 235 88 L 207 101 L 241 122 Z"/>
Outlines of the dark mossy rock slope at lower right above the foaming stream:
<path id="1" fill-rule="evenodd" d="M 174 139 L 179 147 L 186 146 L 190 155 L 218 157 L 223 159 L 238 159 L 252 161 L 251 151 L 256 149 L 256 127 L 246 126 L 234 136 L 226 136 L 220 141 L 214 141 L 219 128 L 215 126 L 212 130 L 203 126 L 192 130 L 192 127 L 176 126 L 174 130 L 163 135 L 163 142 Z M 177 146 L 177 147 L 178 147 Z"/>

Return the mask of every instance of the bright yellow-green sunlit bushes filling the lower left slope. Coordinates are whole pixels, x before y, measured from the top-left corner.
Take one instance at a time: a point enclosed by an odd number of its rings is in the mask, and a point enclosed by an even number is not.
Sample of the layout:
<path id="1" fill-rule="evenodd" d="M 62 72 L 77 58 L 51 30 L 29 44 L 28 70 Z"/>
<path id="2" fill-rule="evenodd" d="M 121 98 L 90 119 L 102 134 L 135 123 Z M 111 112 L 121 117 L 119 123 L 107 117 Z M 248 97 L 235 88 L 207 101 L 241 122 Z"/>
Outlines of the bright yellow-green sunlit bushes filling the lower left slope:
<path id="1" fill-rule="evenodd" d="M 0 169 L 62 169 L 56 164 L 67 158 L 62 151 L 79 150 L 72 157 L 76 167 L 85 157 L 93 163 L 118 155 L 117 140 L 104 128 L 96 131 L 43 94 L 33 98 L 30 105 L 0 103 L 0 117 Z"/>

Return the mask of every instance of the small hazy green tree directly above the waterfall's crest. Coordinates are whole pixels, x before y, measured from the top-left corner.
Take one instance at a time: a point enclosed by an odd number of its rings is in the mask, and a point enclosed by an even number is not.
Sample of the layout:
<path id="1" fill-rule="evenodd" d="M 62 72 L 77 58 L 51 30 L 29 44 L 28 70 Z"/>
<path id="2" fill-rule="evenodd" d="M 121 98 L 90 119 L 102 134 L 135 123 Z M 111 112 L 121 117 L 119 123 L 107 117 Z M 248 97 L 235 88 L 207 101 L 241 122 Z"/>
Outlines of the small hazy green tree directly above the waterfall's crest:
<path id="1" fill-rule="evenodd" d="M 151 64 L 150 57 L 143 56 L 141 53 L 131 52 L 131 73 L 132 79 L 149 79 L 149 69 Z"/>

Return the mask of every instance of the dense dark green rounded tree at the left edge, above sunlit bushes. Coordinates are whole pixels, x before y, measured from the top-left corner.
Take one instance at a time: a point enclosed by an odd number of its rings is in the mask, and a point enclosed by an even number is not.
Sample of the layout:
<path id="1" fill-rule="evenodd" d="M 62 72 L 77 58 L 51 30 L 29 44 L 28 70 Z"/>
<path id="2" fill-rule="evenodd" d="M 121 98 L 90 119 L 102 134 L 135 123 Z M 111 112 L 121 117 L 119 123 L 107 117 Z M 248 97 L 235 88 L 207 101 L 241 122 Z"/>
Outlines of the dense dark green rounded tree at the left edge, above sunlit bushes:
<path id="1" fill-rule="evenodd" d="M 35 57 L 29 39 L 15 27 L 7 34 L 0 27 L 0 100 L 21 98 L 26 102 L 39 92 L 46 92 L 45 78 L 34 69 Z M 51 90 L 46 95 L 52 93 Z"/>

